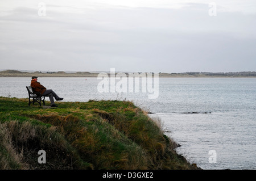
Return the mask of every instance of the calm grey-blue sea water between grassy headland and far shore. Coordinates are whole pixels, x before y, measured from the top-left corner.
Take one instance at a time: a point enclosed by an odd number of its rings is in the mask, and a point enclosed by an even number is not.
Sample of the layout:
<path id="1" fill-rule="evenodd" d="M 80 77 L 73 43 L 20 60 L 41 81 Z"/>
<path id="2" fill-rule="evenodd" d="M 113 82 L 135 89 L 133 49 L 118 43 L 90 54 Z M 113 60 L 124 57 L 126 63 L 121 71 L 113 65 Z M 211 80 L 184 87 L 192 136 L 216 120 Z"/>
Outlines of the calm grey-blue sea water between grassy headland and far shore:
<path id="1" fill-rule="evenodd" d="M 31 78 L 0 78 L 0 96 L 28 98 Z M 64 101 L 131 100 L 202 169 L 256 169 L 256 78 L 159 78 L 159 96 L 99 92 L 97 78 L 38 78 Z M 48 99 L 48 98 L 46 98 Z"/>

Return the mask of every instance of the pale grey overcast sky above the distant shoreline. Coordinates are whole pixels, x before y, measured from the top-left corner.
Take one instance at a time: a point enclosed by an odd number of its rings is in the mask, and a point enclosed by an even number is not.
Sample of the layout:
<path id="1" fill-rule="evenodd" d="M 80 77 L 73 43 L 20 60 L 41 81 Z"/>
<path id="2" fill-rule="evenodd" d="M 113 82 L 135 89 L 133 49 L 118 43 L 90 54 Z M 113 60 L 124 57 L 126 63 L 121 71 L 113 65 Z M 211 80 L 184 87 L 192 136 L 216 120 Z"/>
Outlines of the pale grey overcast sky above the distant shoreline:
<path id="1" fill-rule="evenodd" d="M 256 1 L 0 0 L 0 41 L 0 69 L 256 71 Z"/>

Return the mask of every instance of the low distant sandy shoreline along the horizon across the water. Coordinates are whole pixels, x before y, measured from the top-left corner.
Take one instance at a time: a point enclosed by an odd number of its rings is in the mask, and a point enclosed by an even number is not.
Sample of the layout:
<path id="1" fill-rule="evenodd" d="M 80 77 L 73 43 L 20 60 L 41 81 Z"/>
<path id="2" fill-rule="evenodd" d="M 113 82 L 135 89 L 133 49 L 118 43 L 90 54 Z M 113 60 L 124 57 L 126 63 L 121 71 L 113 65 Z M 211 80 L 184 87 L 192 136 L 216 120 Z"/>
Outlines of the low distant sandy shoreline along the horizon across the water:
<path id="1" fill-rule="evenodd" d="M 154 74 L 154 73 L 153 73 Z M 24 72 L 18 70 L 4 70 L 0 71 L 0 77 L 98 77 L 98 73 L 89 71 L 78 71 L 76 73 L 66 73 L 65 71 L 56 72 Z M 128 73 L 126 73 L 128 75 Z M 159 78 L 256 78 L 255 71 L 241 71 L 229 73 L 209 73 L 209 72 L 187 72 L 187 73 L 159 73 Z"/>

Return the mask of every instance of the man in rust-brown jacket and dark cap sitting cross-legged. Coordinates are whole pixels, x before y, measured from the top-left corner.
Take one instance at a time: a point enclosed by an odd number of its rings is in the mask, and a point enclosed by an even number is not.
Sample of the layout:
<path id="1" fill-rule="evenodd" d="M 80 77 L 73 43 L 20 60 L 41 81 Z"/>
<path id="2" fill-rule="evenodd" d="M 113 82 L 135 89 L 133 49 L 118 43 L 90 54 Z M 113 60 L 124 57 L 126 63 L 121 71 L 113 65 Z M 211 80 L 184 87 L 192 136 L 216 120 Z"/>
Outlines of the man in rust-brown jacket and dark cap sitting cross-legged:
<path id="1" fill-rule="evenodd" d="M 35 92 L 40 92 L 41 96 L 49 97 L 49 100 L 51 101 L 51 107 L 57 107 L 57 105 L 53 100 L 53 97 L 56 100 L 63 100 L 63 98 L 60 98 L 59 96 L 57 96 L 57 94 L 53 90 L 46 89 L 46 87 L 41 85 L 40 82 L 38 82 L 38 77 L 35 77 L 35 76 L 32 77 L 30 86 L 34 89 Z"/>

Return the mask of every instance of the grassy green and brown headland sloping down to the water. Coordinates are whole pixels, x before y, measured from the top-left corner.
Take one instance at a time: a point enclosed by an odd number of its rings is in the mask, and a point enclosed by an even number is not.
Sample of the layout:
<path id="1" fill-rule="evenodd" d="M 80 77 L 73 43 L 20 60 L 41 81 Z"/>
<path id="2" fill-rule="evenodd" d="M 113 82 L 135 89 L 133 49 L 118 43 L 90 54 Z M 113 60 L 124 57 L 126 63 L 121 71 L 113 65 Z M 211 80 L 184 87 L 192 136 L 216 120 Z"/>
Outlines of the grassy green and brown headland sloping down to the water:
<path id="1" fill-rule="evenodd" d="M 59 102 L 46 109 L 0 97 L 0 169 L 197 169 L 175 146 L 132 102 Z M 46 164 L 38 163 L 39 150 Z"/>

